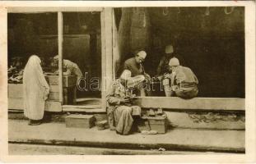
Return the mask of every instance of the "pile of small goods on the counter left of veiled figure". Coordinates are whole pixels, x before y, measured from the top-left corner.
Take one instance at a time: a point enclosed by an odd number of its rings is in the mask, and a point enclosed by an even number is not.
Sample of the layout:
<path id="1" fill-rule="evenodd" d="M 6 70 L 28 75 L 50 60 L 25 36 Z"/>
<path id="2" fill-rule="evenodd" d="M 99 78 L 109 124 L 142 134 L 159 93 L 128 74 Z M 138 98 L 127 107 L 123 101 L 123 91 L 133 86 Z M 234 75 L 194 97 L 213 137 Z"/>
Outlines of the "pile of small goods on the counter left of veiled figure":
<path id="1" fill-rule="evenodd" d="M 8 83 L 21 84 L 25 63 L 21 57 L 13 57 L 8 68 Z"/>

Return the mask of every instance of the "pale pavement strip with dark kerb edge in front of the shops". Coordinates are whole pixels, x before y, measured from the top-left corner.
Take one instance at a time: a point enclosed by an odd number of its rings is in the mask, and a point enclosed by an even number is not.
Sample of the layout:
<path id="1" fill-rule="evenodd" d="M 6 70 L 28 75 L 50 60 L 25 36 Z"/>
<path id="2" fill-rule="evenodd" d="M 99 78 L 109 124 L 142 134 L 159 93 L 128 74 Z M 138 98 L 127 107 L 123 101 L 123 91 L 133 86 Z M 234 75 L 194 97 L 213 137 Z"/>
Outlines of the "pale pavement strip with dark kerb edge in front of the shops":
<path id="1" fill-rule="evenodd" d="M 244 152 L 244 130 L 169 130 L 166 134 L 122 136 L 110 130 L 66 128 L 63 123 L 29 126 L 9 120 L 9 142 L 94 148 Z"/>

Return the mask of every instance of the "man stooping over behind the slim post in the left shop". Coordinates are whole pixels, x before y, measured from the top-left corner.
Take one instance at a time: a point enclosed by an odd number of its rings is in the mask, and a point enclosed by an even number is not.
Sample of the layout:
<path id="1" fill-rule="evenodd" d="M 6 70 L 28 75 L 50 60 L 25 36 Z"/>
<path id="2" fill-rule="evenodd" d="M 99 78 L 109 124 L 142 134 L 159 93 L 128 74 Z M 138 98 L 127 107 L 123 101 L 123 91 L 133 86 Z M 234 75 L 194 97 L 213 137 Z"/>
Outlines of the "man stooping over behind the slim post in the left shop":
<path id="1" fill-rule="evenodd" d="M 58 66 L 58 55 L 54 57 L 54 64 Z M 77 80 L 82 77 L 81 70 L 76 63 L 63 59 L 63 67 L 67 69 L 63 75 L 77 75 Z"/>

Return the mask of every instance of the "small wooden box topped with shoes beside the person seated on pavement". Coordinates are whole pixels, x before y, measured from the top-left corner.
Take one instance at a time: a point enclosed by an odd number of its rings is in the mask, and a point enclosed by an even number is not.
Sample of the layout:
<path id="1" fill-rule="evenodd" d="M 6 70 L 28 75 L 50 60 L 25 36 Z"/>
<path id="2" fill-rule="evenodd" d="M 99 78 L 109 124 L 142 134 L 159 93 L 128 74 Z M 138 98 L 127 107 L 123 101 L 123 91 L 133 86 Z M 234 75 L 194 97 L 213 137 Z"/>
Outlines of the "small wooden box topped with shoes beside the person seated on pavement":
<path id="1" fill-rule="evenodd" d="M 164 134 L 167 131 L 168 120 L 165 112 L 161 108 L 150 109 L 142 116 L 138 123 L 138 130 L 142 134 Z"/>

